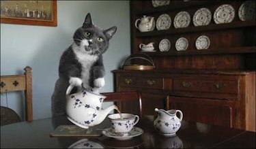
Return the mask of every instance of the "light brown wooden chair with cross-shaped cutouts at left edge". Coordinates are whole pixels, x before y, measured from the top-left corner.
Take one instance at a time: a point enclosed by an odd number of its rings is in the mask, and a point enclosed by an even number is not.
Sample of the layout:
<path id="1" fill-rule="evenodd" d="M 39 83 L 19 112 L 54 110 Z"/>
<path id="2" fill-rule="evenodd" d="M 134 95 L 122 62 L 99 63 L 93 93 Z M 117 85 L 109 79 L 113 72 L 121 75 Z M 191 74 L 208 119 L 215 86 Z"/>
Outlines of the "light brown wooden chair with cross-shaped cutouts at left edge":
<path id="1" fill-rule="evenodd" d="M 32 109 L 32 72 L 31 67 L 25 67 L 24 75 L 1 76 L 1 93 L 25 91 L 26 120 L 33 120 Z"/>

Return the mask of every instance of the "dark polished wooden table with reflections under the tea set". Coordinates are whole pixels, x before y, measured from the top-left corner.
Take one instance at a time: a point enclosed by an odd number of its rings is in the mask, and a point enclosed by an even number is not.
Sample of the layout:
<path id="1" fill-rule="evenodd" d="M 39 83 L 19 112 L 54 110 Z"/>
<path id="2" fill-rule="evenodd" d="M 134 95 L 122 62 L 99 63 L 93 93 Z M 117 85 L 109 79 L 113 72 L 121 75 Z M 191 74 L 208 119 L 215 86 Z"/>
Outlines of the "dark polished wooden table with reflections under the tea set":
<path id="1" fill-rule="evenodd" d="M 18 122 L 1 127 L 1 148 L 68 148 L 85 137 L 50 137 L 59 125 L 72 125 L 66 117 L 46 118 L 33 122 Z M 98 128 L 108 128 L 108 118 Z M 153 120 L 141 118 L 136 125 L 144 133 L 129 140 L 87 137 L 103 148 L 255 148 L 255 132 L 205 125 L 182 120 L 174 137 L 159 135 Z"/>

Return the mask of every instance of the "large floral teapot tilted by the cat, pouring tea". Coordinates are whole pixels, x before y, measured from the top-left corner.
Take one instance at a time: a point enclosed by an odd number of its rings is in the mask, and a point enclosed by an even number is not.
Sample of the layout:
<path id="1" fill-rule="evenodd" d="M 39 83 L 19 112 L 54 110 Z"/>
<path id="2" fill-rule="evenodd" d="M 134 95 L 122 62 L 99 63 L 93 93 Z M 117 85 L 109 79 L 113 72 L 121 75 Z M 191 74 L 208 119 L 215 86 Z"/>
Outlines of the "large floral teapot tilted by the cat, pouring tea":
<path id="1" fill-rule="evenodd" d="M 66 113 L 68 120 L 78 127 L 88 129 L 98 125 L 106 118 L 109 112 L 117 110 L 116 105 L 111 105 L 101 110 L 102 102 L 106 98 L 104 95 L 92 93 L 84 87 L 77 93 L 70 95 L 72 88 L 74 86 L 70 84 L 66 90 Z"/>

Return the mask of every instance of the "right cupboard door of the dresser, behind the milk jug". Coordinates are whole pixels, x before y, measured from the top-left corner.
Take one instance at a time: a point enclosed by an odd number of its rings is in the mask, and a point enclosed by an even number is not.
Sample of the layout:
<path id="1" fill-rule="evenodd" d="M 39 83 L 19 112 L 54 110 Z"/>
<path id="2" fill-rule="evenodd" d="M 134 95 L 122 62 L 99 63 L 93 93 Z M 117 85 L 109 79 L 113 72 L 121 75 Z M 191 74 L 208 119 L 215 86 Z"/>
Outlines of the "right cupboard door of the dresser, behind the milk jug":
<path id="1" fill-rule="evenodd" d="M 232 127 L 233 106 L 230 102 L 189 97 L 169 97 L 169 109 L 181 110 L 183 119 L 211 125 Z"/>

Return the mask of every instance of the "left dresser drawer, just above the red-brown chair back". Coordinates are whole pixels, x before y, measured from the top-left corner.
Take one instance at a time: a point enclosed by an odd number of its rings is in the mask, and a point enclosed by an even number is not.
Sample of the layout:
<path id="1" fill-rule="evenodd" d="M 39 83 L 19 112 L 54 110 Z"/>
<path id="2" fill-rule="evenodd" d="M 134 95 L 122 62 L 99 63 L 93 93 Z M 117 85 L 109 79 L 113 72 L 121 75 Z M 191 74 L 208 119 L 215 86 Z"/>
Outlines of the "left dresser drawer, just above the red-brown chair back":
<path id="1" fill-rule="evenodd" d="M 151 77 L 119 77 L 117 79 L 117 85 L 123 87 L 133 87 L 133 88 L 152 88 L 152 89 L 162 89 L 163 80 L 161 78 L 151 78 Z"/>

